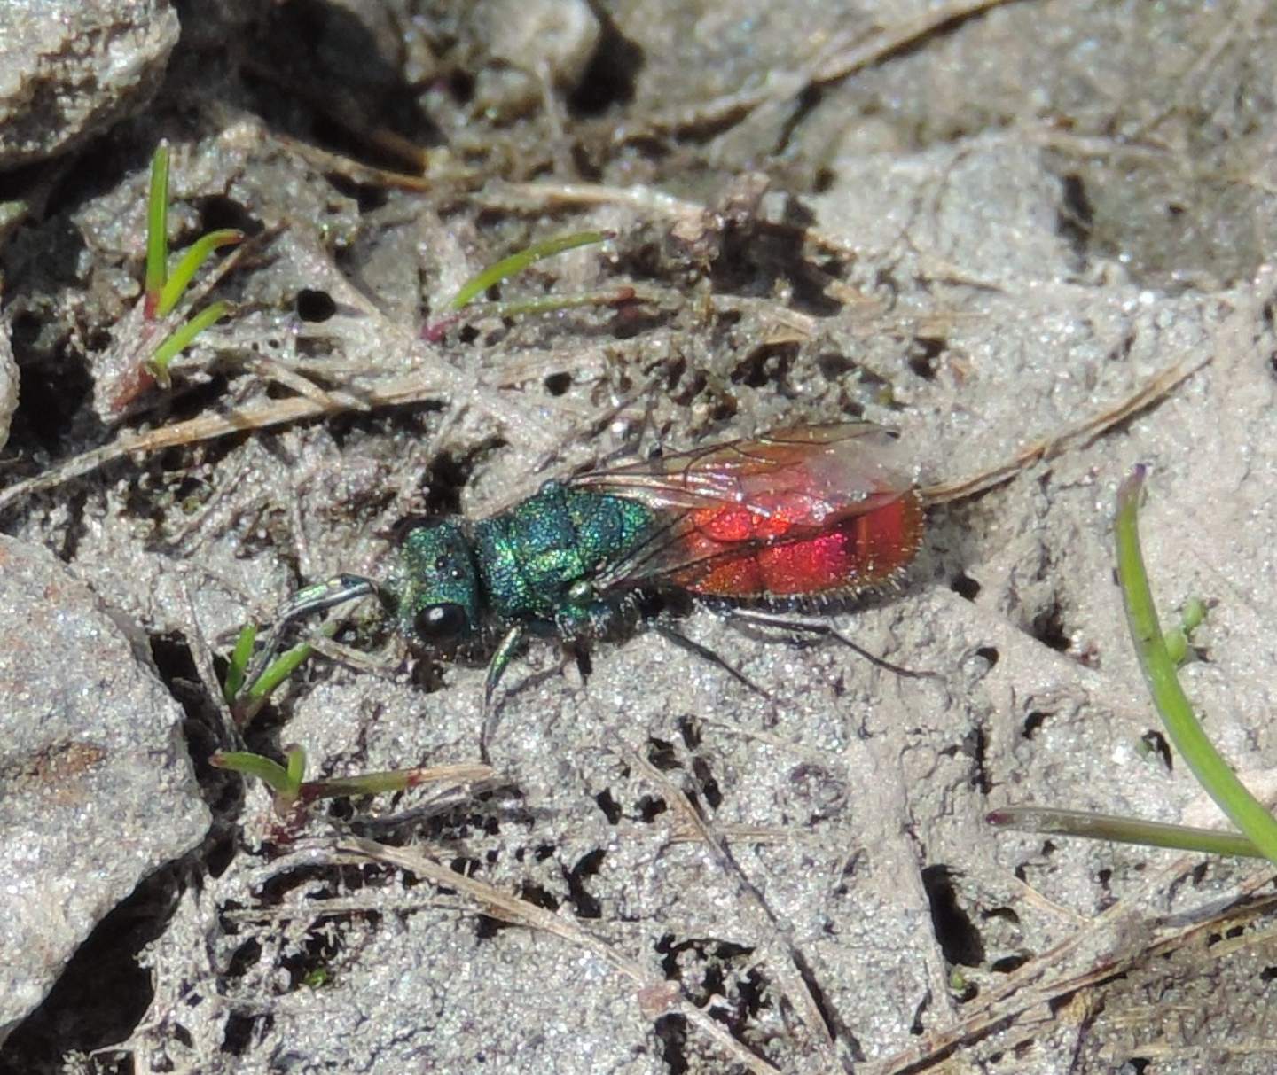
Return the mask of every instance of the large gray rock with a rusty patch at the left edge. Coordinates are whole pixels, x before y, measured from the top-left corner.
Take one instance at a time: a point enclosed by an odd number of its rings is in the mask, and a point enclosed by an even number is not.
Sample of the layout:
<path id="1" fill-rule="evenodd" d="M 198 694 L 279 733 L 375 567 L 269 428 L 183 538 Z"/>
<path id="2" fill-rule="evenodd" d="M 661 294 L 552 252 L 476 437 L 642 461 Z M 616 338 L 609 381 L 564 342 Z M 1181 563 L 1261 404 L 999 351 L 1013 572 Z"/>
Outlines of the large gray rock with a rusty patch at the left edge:
<path id="1" fill-rule="evenodd" d="M 103 918 L 199 843 L 209 816 L 181 709 L 149 666 L 146 640 L 47 552 L 9 538 L 0 538 L 0 696 L 8 1037 Z"/>

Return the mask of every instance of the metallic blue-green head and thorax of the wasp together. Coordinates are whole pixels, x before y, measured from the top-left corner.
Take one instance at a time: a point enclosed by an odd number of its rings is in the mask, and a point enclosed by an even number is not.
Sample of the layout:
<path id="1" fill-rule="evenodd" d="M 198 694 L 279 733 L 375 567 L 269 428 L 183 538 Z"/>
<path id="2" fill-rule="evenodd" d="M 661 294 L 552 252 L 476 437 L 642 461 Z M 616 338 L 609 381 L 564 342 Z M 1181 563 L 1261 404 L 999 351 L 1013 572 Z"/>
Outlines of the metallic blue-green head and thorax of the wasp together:
<path id="1" fill-rule="evenodd" d="M 536 495 L 480 522 L 412 530 L 383 589 L 411 641 L 429 641 L 416 618 L 443 603 L 465 610 L 465 635 L 495 620 L 572 636 L 609 609 L 591 580 L 642 544 L 654 523 L 654 512 L 636 500 L 548 481 Z"/>

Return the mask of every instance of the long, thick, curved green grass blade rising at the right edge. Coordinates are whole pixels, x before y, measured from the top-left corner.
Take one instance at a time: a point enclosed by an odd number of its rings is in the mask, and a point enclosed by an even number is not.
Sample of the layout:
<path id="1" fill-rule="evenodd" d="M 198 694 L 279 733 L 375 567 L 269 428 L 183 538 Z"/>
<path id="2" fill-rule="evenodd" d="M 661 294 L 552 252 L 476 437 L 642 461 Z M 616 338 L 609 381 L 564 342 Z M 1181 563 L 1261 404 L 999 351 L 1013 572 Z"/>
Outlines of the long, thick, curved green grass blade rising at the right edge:
<path id="1" fill-rule="evenodd" d="M 1180 687 L 1175 661 L 1167 652 L 1139 548 L 1138 515 L 1143 485 L 1144 467 L 1138 466 L 1117 492 L 1117 516 L 1114 522 L 1117 578 L 1139 665 L 1171 743 L 1198 783 L 1255 848 L 1277 863 L 1277 818 L 1237 780 L 1202 730 L 1193 706 Z"/>

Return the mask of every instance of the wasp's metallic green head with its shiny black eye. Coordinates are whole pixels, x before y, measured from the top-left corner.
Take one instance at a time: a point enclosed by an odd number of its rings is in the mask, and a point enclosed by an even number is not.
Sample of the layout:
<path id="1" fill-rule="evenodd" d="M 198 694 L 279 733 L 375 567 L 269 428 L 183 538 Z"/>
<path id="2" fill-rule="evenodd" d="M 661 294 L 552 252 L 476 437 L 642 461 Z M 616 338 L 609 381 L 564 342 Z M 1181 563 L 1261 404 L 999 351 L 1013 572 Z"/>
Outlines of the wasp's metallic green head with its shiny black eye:
<path id="1" fill-rule="evenodd" d="M 414 526 L 382 587 L 400 633 L 428 650 L 451 650 L 479 629 L 479 582 L 461 525 Z"/>

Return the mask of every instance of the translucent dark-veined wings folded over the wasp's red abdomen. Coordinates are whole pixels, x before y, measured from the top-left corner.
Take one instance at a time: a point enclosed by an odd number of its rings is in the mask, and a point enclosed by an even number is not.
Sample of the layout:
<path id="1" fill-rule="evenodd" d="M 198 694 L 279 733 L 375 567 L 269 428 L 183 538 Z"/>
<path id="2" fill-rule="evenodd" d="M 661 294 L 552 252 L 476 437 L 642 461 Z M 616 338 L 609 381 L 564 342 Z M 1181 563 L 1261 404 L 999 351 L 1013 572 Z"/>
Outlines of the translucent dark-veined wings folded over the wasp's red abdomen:
<path id="1" fill-rule="evenodd" d="M 898 455 L 894 434 L 870 423 L 799 425 L 578 475 L 575 488 L 638 500 L 659 520 L 595 586 L 604 592 L 670 582 L 710 592 L 697 581 L 716 568 L 762 549 L 812 543 L 911 497 L 912 475 Z"/>

